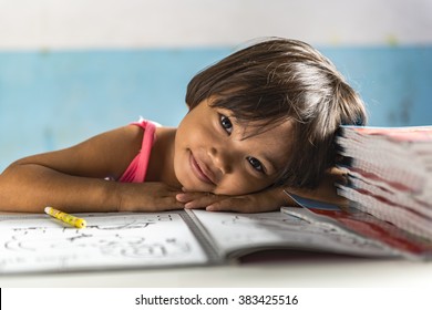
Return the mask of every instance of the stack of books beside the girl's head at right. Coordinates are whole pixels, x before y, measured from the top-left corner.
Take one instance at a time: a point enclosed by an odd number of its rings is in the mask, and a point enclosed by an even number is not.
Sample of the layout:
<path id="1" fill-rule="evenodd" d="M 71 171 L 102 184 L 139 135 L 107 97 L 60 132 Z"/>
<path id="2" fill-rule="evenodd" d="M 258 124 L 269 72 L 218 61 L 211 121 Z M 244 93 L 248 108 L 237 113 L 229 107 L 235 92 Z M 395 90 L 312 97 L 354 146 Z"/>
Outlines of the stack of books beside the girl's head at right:
<path id="1" fill-rule="evenodd" d="M 432 126 L 342 126 L 336 140 L 351 206 L 432 240 Z"/>

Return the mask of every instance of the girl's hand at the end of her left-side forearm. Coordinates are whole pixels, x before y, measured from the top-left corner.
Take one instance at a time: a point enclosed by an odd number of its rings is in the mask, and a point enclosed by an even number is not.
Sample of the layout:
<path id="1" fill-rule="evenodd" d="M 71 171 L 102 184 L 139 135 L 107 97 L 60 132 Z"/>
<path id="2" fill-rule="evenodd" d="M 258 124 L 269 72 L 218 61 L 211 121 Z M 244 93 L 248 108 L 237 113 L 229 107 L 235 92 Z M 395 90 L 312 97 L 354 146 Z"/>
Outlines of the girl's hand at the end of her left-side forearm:
<path id="1" fill-rule="evenodd" d="M 181 190 L 160 182 L 119 183 L 119 211 L 164 211 L 183 209 L 176 199 Z"/>

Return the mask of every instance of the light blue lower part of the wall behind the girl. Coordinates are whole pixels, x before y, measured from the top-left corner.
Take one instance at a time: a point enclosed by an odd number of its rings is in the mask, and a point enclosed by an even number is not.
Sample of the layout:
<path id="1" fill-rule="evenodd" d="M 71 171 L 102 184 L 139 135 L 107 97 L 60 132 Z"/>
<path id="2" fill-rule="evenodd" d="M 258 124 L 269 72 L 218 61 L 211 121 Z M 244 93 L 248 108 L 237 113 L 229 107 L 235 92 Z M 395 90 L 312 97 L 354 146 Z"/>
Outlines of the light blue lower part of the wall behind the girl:
<path id="1" fill-rule="evenodd" d="M 370 125 L 432 124 L 432 46 L 321 48 L 368 104 Z M 140 115 L 175 126 L 185 89 L 229 48 L 0 52 L 0 170 Z"/>

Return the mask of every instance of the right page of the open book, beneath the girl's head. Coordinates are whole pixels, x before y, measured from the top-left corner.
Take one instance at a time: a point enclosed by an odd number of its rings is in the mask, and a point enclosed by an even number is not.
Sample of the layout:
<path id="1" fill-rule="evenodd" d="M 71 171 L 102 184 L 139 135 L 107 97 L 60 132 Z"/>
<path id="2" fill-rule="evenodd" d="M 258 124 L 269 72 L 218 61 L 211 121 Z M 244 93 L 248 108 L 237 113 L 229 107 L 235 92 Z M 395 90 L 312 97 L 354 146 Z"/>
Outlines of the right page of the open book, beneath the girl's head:
<path id="1" fill-rule="evenodd" d="M 194 210 L 202 226 L 225 255 L 264 248 L 323 250 L 359 256 L 395 256 L 373 240 L 329 224 L 317 225 L 282 214 L 236 214 Z"/>

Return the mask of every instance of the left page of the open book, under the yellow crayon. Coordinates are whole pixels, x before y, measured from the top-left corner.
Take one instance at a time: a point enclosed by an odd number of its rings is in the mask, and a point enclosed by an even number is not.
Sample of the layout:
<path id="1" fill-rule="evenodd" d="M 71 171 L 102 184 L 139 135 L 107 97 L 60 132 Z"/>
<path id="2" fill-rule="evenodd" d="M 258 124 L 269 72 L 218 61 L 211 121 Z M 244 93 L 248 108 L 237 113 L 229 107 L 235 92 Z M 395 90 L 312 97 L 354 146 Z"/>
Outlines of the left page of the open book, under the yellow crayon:
<path id="1" fill-rule="evenodd" d="M 76 229 L 47 215 L 0 216 L 0 273 L 203 264 L 178 213 L 82 214 Z"/>

